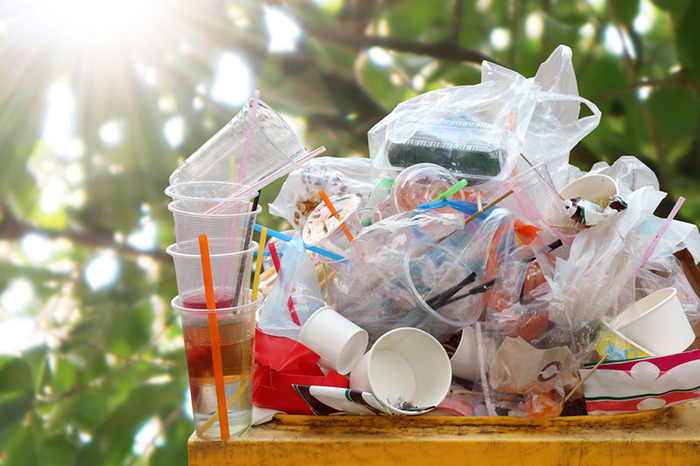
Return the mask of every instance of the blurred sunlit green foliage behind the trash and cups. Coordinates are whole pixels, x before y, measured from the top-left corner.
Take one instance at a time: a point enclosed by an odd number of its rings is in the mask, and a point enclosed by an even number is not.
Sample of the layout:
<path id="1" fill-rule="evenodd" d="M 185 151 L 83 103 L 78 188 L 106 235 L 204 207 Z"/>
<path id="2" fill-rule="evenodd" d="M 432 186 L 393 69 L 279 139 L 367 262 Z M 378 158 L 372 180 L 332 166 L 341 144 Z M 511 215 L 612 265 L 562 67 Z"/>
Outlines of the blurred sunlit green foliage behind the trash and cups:
<path id="1" fill-rule="evenodd" d="M 367 131 L 399 102 L 478 83 L 484 59 L 534 76 L 566 44 L 580 94 L 603 112 L 573 163 L 587 170 L 635 155 L 669 193 L 657 215 L 682 195 L 680 217 L 700 220 L 698 1 L 643 2 L 655 16 L 639 33 L 638 0 L 171 0 L 145 18 L 153 30 L 139 40 L 98 44 L 27 33 L 35 3 L 0 5 L 0 291 L 18 278 L 34 290 L 18 313 L 0 308 L 0 325 L 31 318 L 39 337 L 0 356 L 0 464 L 186 464 L 193 425 L 184 413 L 179 318 L 169 307 L 177 291 L 164 254 L 174 234 L 163 189 L 172 170 L 238 111 L 201 89 L 225 51 L 245 57 L 267 103 L 305 122 L 308 148 L 325 145 L 326 155 L 346 157 L 366 156 Z M 300 25 L 295 51 L 268 52 L 265 8 Z M 542 24 L 534 37 L 530 21 Z M 493 45 L 496 30 L 510 35 L 509 45 Z M 604 46 L 606 31 L 626 38 L 622 53 Z M 370 60 L 372 47 L 392 63 Z M 156 84 L 142 79 L 144 66 Z M 82 150 L 73 158 L 41 140 L 46 91 L 57 80 L 75 92 Z M 163 98 L 175 99 L 175 109 L 164 109 Z M 174 114 L 185 121 L 178 149 L 163 137 Z M 125 139 L 107 146 L 99 130 L 113 118 L 124 122 Z M 56 194 L 60 208 L 50 213 L 41 208 L 46 184 L 37 167 L 66 179 L 70 170 L 82 174 Z M 265 189 L 263 206 L 280 184 Z M 124 238 L 145 221 L 157 226 L 157 246 L 137 250 Z M 266 209 L 260 223 L 281 227 Z M 44 262 L 21 247 L 31 233 L 52 242 Z M 93 290 L 86 267 L 105 251 L 116 255 L 119 278 Z M 149 421 L 158 435 L 135 452 L 136 433 Z"/>

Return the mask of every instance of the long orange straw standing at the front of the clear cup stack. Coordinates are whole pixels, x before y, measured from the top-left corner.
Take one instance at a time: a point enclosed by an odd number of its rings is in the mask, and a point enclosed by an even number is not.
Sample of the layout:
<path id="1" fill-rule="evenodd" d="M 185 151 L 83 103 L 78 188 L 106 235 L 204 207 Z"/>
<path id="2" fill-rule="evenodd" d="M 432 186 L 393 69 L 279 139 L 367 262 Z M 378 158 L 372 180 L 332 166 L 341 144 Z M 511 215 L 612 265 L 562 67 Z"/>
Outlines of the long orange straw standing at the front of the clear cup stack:
<path id="1" fill-rule="evenodd" d="M 207 309 L 216 309 L 214 299 L 214 283 L 211 276 L 211 261 L 209 259 L 209 242 L 207 235 L 199 235 L 199 254 L 202 257 L 202 272 L 204 274 L 204 293 L 207 297 Z M 226 393 L 224 392 L 224 368 L 221 362 L 221 341 L 219 339 L 219 323 L 216 320 L 216 312 L 209 315 L 209 339 L 211 340 L 211 359 L 214 366 L 214 385 L 216 387 L 216 406 L 219 411 L 219 426 L 221 427 L 221 440 L 228 440 L 228 408 L 226 407 Z"/>

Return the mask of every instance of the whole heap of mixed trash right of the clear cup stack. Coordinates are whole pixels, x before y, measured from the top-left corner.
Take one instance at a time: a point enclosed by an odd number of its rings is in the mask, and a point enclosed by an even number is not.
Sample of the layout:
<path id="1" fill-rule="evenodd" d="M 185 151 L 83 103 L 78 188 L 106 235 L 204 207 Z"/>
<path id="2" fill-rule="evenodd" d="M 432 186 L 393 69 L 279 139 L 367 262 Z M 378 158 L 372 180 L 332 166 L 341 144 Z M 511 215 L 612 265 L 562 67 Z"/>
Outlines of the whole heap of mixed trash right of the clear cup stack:
<path id="1" fill-rule="evenodd" d="M 257 422 L 697 398 L 698 229 L 682 198 L 654 216 L 666 193 L 635 157 L 569 164 L 600 117 L 560 46 L 534 78 L 484 62 L 478 85 L 401 103 L 369 158 L 292 171 L 269 205 L 292 230 L 255 226 L 281 256 L 256 270 Z"/>

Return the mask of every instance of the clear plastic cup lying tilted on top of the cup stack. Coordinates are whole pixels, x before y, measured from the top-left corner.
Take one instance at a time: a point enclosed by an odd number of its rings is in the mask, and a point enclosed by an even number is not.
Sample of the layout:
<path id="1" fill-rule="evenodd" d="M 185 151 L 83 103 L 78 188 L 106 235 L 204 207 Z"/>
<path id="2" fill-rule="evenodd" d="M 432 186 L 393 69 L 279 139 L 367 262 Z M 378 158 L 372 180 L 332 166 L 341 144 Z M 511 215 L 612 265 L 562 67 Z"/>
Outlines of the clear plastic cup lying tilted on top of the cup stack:
<path id="1" fill-rule="evenodd" d="M 292 128 L 265 102 L 249 98 L 218 133 L 189 156 L 170 176 L 170 184 L 192 181 L 234 182 L 234 197 L 253 197 L 259 189 L 299 168 L 306 149 Z"/>

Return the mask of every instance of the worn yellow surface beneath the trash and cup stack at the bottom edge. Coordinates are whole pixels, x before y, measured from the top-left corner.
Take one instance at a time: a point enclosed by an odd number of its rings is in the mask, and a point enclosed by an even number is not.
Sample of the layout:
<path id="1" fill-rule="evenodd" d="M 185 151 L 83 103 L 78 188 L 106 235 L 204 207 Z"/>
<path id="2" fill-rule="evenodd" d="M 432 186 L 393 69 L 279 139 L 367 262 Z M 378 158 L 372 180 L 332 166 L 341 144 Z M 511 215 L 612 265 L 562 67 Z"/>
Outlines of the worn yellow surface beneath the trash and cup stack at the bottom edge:
<path id="1" fill-rule="evenodd" d="M 278 415 L 244 437 L 188 442 L 190 466 L 700 465 L 700 402 L 557 419 Z"/>

